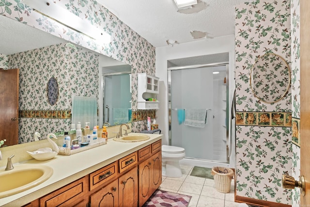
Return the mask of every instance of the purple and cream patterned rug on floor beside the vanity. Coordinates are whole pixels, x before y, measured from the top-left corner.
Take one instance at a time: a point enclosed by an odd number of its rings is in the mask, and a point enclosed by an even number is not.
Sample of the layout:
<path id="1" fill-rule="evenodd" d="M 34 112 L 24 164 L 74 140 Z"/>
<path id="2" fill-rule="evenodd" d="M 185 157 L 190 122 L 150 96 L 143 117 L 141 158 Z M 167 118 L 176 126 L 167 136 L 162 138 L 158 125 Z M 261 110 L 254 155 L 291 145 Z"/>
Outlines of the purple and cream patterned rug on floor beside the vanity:
<path id="1" fill-rule="evenodd" d="M 187 207 L 192 196 L 156 190 L 142 207 Z"/>

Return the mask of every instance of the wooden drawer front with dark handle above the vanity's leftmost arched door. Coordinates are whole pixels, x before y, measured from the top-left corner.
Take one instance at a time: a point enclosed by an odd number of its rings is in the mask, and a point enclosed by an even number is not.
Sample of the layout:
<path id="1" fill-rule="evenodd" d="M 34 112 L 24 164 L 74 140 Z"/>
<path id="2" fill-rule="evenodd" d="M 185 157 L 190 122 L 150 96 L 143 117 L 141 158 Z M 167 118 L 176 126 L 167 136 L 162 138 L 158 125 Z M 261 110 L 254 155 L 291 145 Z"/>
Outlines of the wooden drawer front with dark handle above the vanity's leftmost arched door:
<path id="1" fill-rule="evenodd" d="M 116 178 L 117 176 L 117 167 L 118 162 L 113 162 L 108 166 L 105 166 L 93 173 L 90 174 L 90 190 L 97 188 L 101 184 L 106 183 L 107 181 Z"/>

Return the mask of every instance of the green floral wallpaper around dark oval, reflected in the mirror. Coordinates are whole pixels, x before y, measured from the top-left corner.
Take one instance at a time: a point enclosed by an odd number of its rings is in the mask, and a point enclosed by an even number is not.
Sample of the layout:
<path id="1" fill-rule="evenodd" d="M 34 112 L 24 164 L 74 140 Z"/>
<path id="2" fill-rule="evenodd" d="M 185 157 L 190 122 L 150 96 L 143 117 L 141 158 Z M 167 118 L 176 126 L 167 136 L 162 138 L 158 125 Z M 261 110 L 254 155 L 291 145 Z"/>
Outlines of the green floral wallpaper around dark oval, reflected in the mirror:
<path id="1" fill-rule="evenodd" d="M 8 55 L 8 67 L 19 68 L 19 111 L 39 112 L 38 116 L 29 113 L 26 116 L 25 112 L 23 116 L 20 114 L 20 143 L 33 139 L 35 131 L 45 138 L 50 132 L 69 130 L 71 113 L 68 116 L 62 111 L 71 110 L 72 96 L 98 97 L 98 57 L 98 54 L 71 43 Z M 52 77 L 57 79 L 59 87 L 55 105 L 47 102 L 47 83 Z M 49 114 L 41 116 L 39 110 Z M 49 119 L 49 115 L 59 117 L 58 112 L 67 119 Z M 48 119 L 37 120 L 37 117 Z"/>

